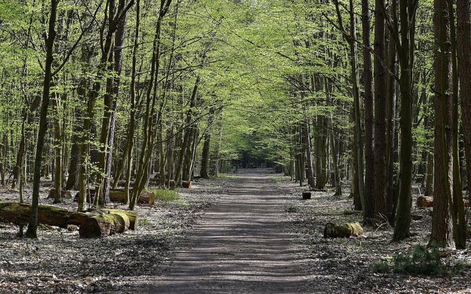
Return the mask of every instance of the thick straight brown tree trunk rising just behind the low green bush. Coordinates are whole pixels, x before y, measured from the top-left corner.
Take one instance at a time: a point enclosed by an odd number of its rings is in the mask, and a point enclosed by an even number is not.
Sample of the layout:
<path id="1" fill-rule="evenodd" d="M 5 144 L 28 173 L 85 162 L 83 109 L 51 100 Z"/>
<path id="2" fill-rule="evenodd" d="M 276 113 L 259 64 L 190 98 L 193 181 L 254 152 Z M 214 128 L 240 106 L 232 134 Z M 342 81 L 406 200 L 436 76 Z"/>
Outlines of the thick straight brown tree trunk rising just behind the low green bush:
<path id="1" fill-rule="evenodd" d="M 455 246 L 450 211 L 453 186 L 450 14 L 447 0 L 434 0 L 435 144 L 434 204 L 430 244 Z"/>

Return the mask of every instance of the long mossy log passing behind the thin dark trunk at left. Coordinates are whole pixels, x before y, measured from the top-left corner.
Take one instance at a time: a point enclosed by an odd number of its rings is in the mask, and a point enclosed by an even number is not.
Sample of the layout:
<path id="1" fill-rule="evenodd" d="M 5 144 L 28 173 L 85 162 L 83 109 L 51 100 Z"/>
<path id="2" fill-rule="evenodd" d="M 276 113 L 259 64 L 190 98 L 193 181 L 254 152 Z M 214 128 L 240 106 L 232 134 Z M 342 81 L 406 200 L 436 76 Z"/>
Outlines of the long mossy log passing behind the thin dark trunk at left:
<path id="1" fill-rule="evenodd" d="M 0 220 L 7 223 L 24 225 L 29 223 L 31 204 L 0 202 Z M 72 212 L 50 205 L 38 206 L 38 223 L 67 229 L 68 225 L 80 226 L 90 215 Z"/>

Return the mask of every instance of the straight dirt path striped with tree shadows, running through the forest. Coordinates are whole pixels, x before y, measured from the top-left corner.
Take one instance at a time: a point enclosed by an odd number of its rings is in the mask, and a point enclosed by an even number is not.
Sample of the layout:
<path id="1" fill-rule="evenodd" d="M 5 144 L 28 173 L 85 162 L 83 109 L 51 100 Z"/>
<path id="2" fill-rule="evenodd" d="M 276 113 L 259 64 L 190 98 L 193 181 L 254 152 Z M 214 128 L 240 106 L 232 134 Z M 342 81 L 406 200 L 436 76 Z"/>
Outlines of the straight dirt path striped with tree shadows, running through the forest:
<path id="1" fill-rule="evenodd" d="M 247 170 L 182 239 L 162 276 L 143 281 L 140 293 L 305 293 L 312 277 L 291 222 L 286 196 L 267 170 Z"/>

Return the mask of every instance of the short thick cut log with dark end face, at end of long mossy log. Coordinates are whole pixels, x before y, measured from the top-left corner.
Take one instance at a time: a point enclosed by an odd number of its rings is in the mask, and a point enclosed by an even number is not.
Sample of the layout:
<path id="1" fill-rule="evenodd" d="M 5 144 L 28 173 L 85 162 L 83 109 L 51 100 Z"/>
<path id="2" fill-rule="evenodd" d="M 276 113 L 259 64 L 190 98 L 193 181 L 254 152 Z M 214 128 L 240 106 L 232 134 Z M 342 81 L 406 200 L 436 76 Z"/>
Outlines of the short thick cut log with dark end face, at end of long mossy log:
<path id="1" fill-rule="evenodd" d="M 97 214 L 87 218 L 79 229 L 81 238 L 100 238 L 122 233 L 129 228 L 129 218 L 124 213 Z"/>

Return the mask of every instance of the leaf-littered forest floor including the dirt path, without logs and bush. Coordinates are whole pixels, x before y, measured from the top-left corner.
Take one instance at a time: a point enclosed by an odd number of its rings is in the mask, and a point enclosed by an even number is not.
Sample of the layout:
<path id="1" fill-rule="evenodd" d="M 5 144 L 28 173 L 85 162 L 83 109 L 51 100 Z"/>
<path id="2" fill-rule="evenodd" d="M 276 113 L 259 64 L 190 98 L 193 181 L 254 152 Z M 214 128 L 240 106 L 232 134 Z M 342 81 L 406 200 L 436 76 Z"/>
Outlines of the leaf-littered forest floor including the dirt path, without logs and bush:
<path id="1" fill-rule="evenodd" d="M 44 198 L 48 189 L 41 189 Z M 103 239 L 62 229 L 21 239 L 17 226 L 0 224 L 0 293 L 471 293 L 470 247 L 442 252 L 446 266 L 463 265 L 459 273 L 375 270 L 427 244 L 430 209 L 413 205 L 417 220 L 406 242 L 391 243 L 389 226 L 324 239 L 327 222 L 361 216 L 339 213 L 352 208 L 346 196 L 315 192 L 301 200 L 302 190 L 267 170 L 199 180 L 179 199 L 140 206 L 138 231 Z M 17 191 L 0 190 L 0 201 L 17 201 Z M 60 206 L 76 209 L 71 201 Z"/>

